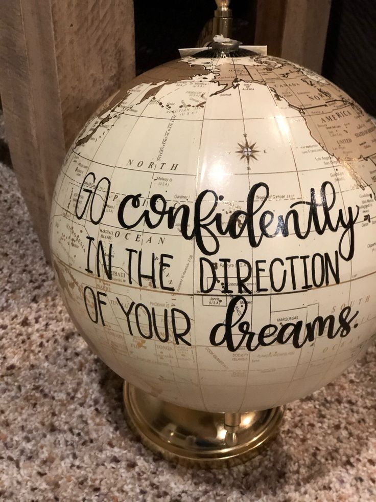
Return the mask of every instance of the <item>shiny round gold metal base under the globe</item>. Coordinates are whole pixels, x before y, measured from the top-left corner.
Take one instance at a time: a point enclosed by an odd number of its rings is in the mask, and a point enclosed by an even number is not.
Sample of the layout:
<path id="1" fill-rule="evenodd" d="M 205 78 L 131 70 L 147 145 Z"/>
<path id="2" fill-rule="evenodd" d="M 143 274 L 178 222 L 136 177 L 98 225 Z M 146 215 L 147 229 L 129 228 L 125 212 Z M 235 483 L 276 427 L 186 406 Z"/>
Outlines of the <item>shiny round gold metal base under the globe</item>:
<path id="1" fill-rule="evenodd" d="M 124 383 L 126 420 L 145 446 L 166 460 L 204 468 L 232 467 L 258 455 L 275 437 L 283 407 L 209 413 L 176 406 Z"/>

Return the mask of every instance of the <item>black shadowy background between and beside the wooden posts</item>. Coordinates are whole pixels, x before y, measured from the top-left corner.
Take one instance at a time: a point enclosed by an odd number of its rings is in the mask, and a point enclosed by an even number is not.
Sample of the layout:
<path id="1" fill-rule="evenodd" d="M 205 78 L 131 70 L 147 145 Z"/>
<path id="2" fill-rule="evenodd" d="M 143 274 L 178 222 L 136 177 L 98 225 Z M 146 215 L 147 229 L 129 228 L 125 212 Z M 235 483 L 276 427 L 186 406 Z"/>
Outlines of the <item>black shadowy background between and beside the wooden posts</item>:
<path id="1" fill-rule="evenodd" d="M 233 38 L 254 41 L 256 0 L 232 0 Z M 137 74 L 195 47 L 214 0 L 135 0 Z M 332 0 L 322 74 L 376 116 L 376 0 Z"/>

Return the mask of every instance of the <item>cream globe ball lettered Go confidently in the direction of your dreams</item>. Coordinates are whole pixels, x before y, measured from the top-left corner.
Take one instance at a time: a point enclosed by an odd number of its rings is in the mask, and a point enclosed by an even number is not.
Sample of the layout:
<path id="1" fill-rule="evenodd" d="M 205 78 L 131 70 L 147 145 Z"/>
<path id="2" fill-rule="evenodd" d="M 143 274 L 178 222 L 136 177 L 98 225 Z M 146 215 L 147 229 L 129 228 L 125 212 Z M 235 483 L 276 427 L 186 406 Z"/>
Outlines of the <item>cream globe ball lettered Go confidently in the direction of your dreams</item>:
<path id="1" fill-rule="evenodd" d="M 353 99 L 284 59 L 202 50 L 135 78 L 69 149 L 57 281 L 137 388 L 209 412 L 283 405 L 373 339 L 375 193 L 375 125 Z"/>

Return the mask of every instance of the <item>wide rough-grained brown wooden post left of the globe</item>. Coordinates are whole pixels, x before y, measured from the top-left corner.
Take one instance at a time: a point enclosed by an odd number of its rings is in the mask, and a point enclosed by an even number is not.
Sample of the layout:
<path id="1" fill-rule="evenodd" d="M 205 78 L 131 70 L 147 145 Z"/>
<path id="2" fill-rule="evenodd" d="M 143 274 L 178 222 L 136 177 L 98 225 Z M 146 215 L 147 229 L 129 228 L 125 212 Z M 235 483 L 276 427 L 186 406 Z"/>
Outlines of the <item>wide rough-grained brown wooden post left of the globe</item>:
<path id="1" fill-rule="evenodd" d="M 43 249 L 68 145 L 134 74 L 132 0 L 3 0 L 0 93 L 13 167 Z"/>

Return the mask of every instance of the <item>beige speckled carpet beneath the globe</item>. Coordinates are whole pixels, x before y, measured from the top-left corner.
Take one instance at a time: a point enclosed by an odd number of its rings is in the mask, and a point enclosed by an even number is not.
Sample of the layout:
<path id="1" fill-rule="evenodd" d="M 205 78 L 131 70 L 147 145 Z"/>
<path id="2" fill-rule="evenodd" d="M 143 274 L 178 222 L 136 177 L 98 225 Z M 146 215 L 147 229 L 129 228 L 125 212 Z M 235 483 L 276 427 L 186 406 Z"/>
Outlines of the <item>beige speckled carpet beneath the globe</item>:
<path id="1" fill-rule="evenodd" d="M 376 500 L 374 346 L 289 405 L 262 456 L 221 471 L 168 464 L 127 428 L 122 380 L 70 322 L 4 165 L 0 185 L 0 500 Z"/>

